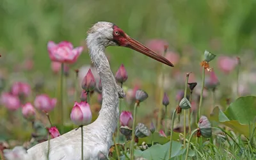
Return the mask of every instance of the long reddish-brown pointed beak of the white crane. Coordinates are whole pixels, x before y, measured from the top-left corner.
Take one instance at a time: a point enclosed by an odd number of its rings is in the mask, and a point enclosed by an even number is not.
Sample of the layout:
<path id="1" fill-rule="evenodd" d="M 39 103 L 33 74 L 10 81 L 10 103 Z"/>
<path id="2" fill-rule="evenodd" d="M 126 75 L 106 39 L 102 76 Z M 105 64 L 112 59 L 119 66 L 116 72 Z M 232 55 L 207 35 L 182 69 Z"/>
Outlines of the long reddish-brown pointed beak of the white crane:
<path id="1" fill-rule="evenodd" d="M 129 47 L 130 49 L 133 49 L 135 51 L 141 52 L 142 54 L 145 54 L 146 56 L 149 56 L 150 58 L 153 58 L 154 60 L 160 61 L 161 63 L 164 63 L 170 67 L 174 67 L 174 65 L 166 60 L 163 56 L 157 54 L 156 52 L 152 51 L 151 49 L 148 49 L 145 45 L 141 44 L 140 42 L 130 38 L 127 35 L 127 38 L 125 38 L 125 42 L 127 45 L 125 47 Z"/>

